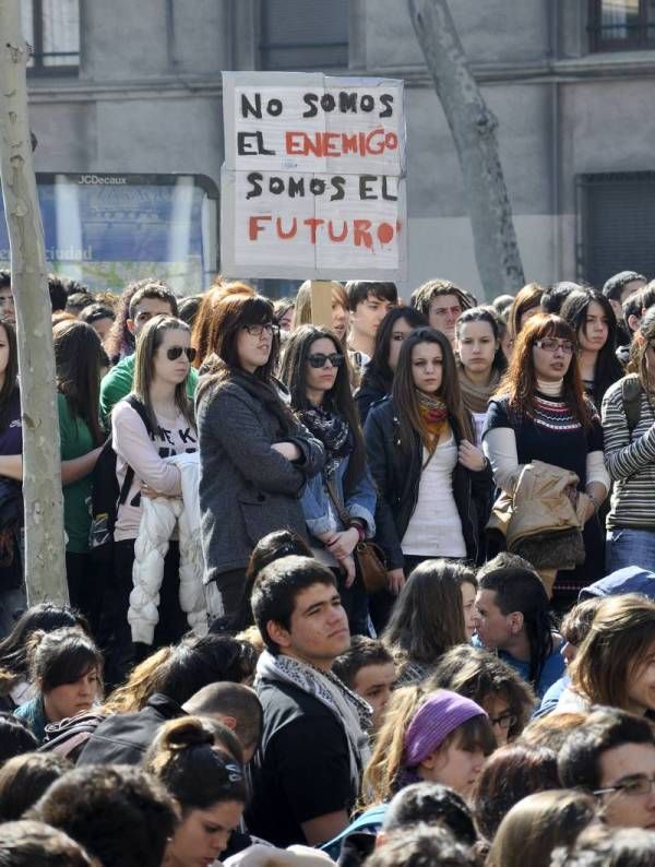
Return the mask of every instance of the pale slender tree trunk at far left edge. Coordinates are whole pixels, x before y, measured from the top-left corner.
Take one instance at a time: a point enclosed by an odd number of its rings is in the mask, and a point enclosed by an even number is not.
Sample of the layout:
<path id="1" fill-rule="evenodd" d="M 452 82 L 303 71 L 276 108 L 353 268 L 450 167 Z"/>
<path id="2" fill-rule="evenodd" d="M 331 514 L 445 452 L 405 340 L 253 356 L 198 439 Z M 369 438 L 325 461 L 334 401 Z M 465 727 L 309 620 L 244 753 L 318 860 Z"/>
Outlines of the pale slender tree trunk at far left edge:
<path id="1" fill-rule="evenodd" d="M 59 419 L 46 252 L 27 122 L 20 0 L 0 0 L 0 180 L 11 248 L 23 419 L 25 580 L 29 604 L 68 602 Z"/>

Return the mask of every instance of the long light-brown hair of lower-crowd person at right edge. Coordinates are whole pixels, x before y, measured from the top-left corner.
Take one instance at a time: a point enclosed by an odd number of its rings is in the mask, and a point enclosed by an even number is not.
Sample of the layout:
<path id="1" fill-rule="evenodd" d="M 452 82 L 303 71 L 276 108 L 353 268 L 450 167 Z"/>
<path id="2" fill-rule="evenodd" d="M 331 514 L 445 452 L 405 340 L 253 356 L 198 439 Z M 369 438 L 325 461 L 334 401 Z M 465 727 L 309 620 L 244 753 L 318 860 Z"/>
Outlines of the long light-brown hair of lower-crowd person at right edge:
<path id="1" fill-rule="evenodd" d="M 630 710 L 630 678 L 655 646 L 655 602 L 638 594 L 599 605 L 570 666 L 573 689 L 593 704 Z"/>

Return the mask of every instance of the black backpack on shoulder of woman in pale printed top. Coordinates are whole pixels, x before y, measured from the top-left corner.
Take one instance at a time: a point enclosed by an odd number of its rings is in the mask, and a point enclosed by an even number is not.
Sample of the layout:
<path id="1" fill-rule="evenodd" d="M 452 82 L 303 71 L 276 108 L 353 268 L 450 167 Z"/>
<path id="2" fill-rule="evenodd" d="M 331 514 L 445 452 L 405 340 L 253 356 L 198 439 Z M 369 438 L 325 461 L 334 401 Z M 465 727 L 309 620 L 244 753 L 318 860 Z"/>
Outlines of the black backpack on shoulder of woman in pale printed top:
<path id="1" fill-rule="evenodd" d="M 140 400 L 129 394 L 124 400 L 132 409 L 139 413 L 139 417 L 145 425 L 148 437 L 153 432 L 147 419 L 145 406 Z M 119 489 L 116 477 L 116 452 L 111 448 L 111 437 L 103 447 L 103 451 L 92 475 L 91 495 L 91 531 L 88 542 L 91 554 L 96 562 L 109 562 L 114 553 L 114 527 L 116 526 L 116 515 L 118 507 L 122 506 L 128 499 L 134 471 L 128 466 L 122 487 Z"/>

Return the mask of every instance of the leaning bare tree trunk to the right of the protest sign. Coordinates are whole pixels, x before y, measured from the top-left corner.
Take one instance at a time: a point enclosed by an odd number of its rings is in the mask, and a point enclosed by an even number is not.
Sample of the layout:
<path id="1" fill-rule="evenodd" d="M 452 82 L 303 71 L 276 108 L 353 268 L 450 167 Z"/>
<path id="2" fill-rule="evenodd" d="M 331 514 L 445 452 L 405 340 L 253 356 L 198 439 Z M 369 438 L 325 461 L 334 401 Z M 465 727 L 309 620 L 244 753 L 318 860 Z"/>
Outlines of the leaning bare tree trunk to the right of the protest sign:
<path id="1" fill-rule="evenodd" d="M 523 286 L 512 207 L 496 130 L 498 120 L 468 69 L 448 0 L 408 0 L 409 15 L 451 128 L 487 298 Z"/>

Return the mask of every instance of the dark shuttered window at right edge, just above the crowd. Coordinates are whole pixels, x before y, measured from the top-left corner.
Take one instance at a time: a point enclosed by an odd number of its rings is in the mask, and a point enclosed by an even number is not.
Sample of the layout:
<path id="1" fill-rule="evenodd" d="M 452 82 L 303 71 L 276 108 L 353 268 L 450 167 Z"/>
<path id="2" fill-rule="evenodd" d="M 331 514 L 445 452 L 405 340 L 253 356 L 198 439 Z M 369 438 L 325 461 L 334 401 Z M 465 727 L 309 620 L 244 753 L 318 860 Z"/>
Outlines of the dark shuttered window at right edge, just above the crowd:
<path id="1" fill-rule="evenodd" d="M 603 286 L 618 271 L 655 275 L 655 171 L 577 178 L 577 276 Z"/>

